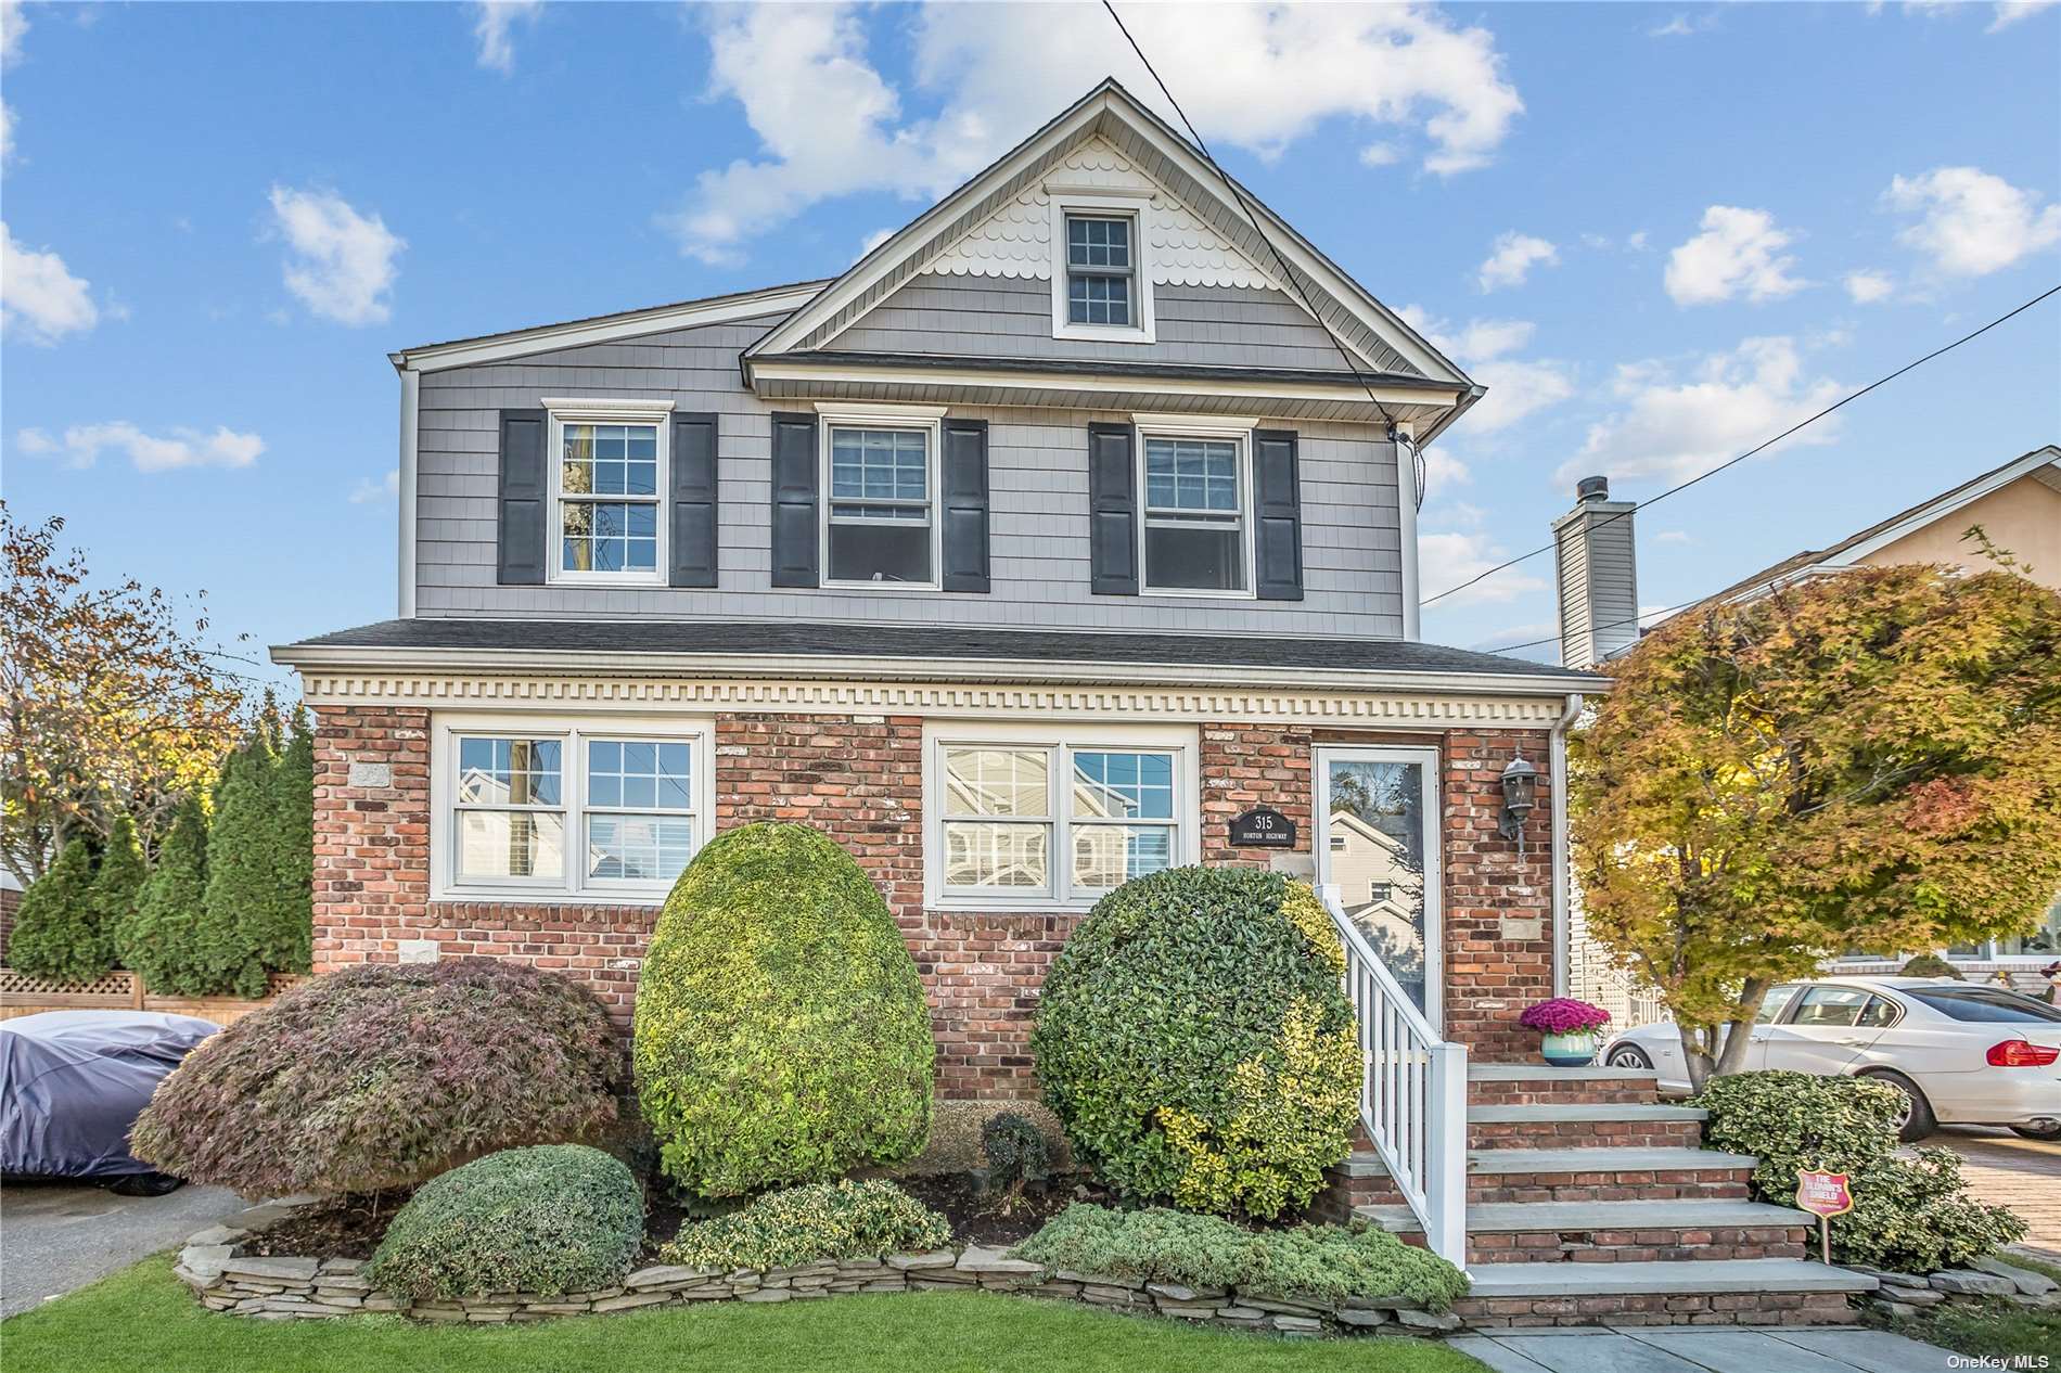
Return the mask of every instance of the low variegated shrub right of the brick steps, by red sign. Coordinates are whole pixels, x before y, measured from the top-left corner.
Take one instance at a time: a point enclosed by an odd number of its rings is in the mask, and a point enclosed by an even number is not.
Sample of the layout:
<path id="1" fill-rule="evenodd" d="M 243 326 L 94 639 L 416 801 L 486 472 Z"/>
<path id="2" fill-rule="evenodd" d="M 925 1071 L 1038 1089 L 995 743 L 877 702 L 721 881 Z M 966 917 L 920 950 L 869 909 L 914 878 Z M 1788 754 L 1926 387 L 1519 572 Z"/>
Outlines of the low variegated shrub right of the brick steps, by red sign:
<path id="1" fill-rule="evenodd" d="M 1960 1159 L 1921 1148 L 1900 1157 L 1902 1095 L 1867 1078 L 1739 1072 L 1704 1084 L 1704 1142 L 1758 1154 L 1754 1194 L 1795 1206 L 1801 1169 L 1845 1173 L 1853 1210 L 1832 1216 L 1832 1258 L 1896 1272 L 1933 1272 L 2024 1237 L 2003 1206 L 1968 1196 Z"/>

